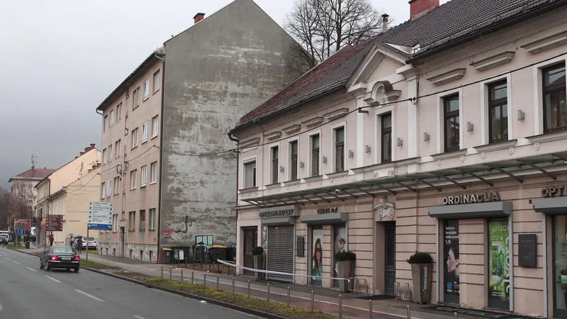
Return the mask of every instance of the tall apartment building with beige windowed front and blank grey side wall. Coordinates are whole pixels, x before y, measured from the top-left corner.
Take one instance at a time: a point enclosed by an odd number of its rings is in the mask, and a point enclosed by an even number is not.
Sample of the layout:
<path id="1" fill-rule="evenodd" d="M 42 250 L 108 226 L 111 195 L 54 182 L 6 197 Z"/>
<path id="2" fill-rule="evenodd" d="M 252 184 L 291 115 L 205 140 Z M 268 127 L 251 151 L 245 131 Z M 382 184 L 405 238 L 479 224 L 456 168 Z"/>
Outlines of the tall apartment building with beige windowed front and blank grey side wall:
<path id="1" fill-rule="evenodd" d="M 236 0 L 197 13 L 101 103 L 101 197 L 117 212 L 102 254 L 157 261 L 158 247 L 236 242 L 226 133 L 301 75 L 288 69 L 297 45 L 254 1 Z"/>

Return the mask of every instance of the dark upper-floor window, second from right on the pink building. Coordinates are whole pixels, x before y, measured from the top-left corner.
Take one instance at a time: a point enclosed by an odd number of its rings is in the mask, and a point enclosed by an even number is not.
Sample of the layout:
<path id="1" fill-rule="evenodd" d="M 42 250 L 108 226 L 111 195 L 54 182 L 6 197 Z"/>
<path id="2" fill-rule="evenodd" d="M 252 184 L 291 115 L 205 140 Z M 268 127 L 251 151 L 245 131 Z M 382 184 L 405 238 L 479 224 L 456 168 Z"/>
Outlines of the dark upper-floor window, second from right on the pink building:
<path id="1" fill-rule="evenodd" d="M 488 85 L 489 142 L 508 140 L 508 86 L 506 80 Z"/>

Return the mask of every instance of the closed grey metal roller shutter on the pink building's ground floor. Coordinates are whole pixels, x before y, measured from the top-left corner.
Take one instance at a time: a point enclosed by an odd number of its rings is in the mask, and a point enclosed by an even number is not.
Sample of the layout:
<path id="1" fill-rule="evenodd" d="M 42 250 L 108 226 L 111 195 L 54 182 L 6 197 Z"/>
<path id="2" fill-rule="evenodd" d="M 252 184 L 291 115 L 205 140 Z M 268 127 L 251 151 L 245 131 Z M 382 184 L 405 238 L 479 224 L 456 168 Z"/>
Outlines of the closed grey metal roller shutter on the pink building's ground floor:
<path id="1" fill-rule="evenodd" d="M 293 226 L 268 227 L 267 269 L 293 274 Z M 293 282 L 293 276 L 267 274 L 267 279 Z"/>

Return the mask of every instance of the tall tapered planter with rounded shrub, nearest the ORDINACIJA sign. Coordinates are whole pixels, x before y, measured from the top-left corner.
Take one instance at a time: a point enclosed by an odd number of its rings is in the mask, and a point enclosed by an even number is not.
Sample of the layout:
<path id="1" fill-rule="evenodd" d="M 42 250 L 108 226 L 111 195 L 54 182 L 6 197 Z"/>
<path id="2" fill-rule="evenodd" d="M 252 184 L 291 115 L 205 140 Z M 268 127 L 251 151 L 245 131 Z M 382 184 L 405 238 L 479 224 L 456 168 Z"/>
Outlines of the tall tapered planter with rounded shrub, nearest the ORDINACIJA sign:
<path id="1" fill-rule="evenodd" d="M 412 265 L 413 296 L 416 303 L 430 303 L 433 258 L 428 252 L 415 252 L 408 259 Z"/>

